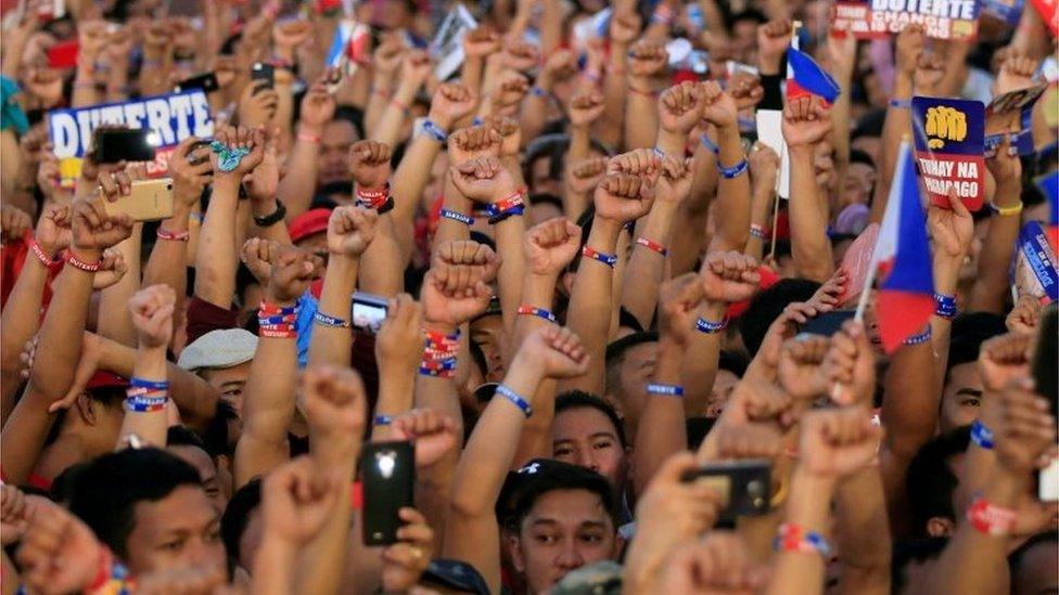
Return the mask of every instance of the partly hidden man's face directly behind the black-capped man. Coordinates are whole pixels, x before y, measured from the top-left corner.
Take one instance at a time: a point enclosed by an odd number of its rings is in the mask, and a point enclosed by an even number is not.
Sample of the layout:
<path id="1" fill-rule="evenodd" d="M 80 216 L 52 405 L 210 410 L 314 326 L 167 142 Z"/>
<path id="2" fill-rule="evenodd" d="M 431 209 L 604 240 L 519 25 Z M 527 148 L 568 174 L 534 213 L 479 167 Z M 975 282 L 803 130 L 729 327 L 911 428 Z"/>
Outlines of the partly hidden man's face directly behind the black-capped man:
<path id="1" fill-rule="evenodd" d="M 625 484 L 625 449 L 617 429 L 595 408 L 567 409 L 556 414 L 551 425 L 551 456 L 587 467 L 605 477 L 615 488 Z"/>

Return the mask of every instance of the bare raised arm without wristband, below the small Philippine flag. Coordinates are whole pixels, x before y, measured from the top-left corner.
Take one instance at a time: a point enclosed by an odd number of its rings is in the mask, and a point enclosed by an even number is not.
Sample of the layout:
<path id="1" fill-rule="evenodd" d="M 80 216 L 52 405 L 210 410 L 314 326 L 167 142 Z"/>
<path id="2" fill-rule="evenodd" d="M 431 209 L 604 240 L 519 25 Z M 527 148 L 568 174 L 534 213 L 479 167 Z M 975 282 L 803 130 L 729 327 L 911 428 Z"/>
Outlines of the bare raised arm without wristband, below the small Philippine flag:
<path id="1" fill-rule="evenodd" d="M 800 98 L 783 109 L 783 139 L 791 156 L 791 254 L 800 276 L 824 283 L 834 271 L 827 236 L 828 202 L 816 183 L 816 146 L 831 131 L 820 98 Z"/>

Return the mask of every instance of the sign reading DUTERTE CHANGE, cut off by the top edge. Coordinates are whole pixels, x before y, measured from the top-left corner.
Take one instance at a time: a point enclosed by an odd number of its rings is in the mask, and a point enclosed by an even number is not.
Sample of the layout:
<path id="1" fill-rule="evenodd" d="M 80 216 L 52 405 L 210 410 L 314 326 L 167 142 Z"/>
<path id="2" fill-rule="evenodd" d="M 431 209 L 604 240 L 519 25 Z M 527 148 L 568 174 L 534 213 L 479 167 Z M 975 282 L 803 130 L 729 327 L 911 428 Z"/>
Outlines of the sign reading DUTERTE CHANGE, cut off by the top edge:
<path id="1" fill-rule="evenodd" d="M 970 39 L 978 34 L 978 0 L 840 0 L 832 28 L 857 39 L 878 39 L 922 25 L 934 39 Z"/>

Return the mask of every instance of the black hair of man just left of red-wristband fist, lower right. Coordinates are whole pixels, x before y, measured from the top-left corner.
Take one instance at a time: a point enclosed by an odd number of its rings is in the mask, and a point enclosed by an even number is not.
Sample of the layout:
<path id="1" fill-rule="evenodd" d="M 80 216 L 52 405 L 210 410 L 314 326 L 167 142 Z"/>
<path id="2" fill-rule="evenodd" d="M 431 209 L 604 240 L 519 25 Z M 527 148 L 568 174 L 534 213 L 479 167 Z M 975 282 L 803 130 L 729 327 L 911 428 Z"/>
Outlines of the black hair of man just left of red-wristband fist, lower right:
<path id="1" fill-rule="evenodd" d="M 970 439 L 970 426 L 935 436 L 919 449 L 908 465 L 906 490 L 916 535 L 927 534 L 927 522 L 932 518 L 956 520 L 953 493 L 959 484 L 959 478 L 953 471 L 950 460 L 967 452 Z"/>

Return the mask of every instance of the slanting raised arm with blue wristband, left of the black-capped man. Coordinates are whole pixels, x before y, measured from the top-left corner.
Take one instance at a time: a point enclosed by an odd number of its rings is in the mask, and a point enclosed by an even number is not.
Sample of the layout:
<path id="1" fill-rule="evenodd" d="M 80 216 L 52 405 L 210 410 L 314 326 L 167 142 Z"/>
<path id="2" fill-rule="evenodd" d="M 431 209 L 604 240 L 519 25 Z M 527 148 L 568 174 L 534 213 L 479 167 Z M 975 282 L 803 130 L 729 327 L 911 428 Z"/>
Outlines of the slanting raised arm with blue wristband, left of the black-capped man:
<path id="1" fill-rule="evenodd" d="M 494 506 L 533 412 L 534 393 L 545 378 L 584 374 L 587 360 L 577 336 L 566 328 L 548 327 L 526 337 L 460 457 L 442 554 L 471 564 L 490 593 L 500 590 L 500 534 Z"/>

